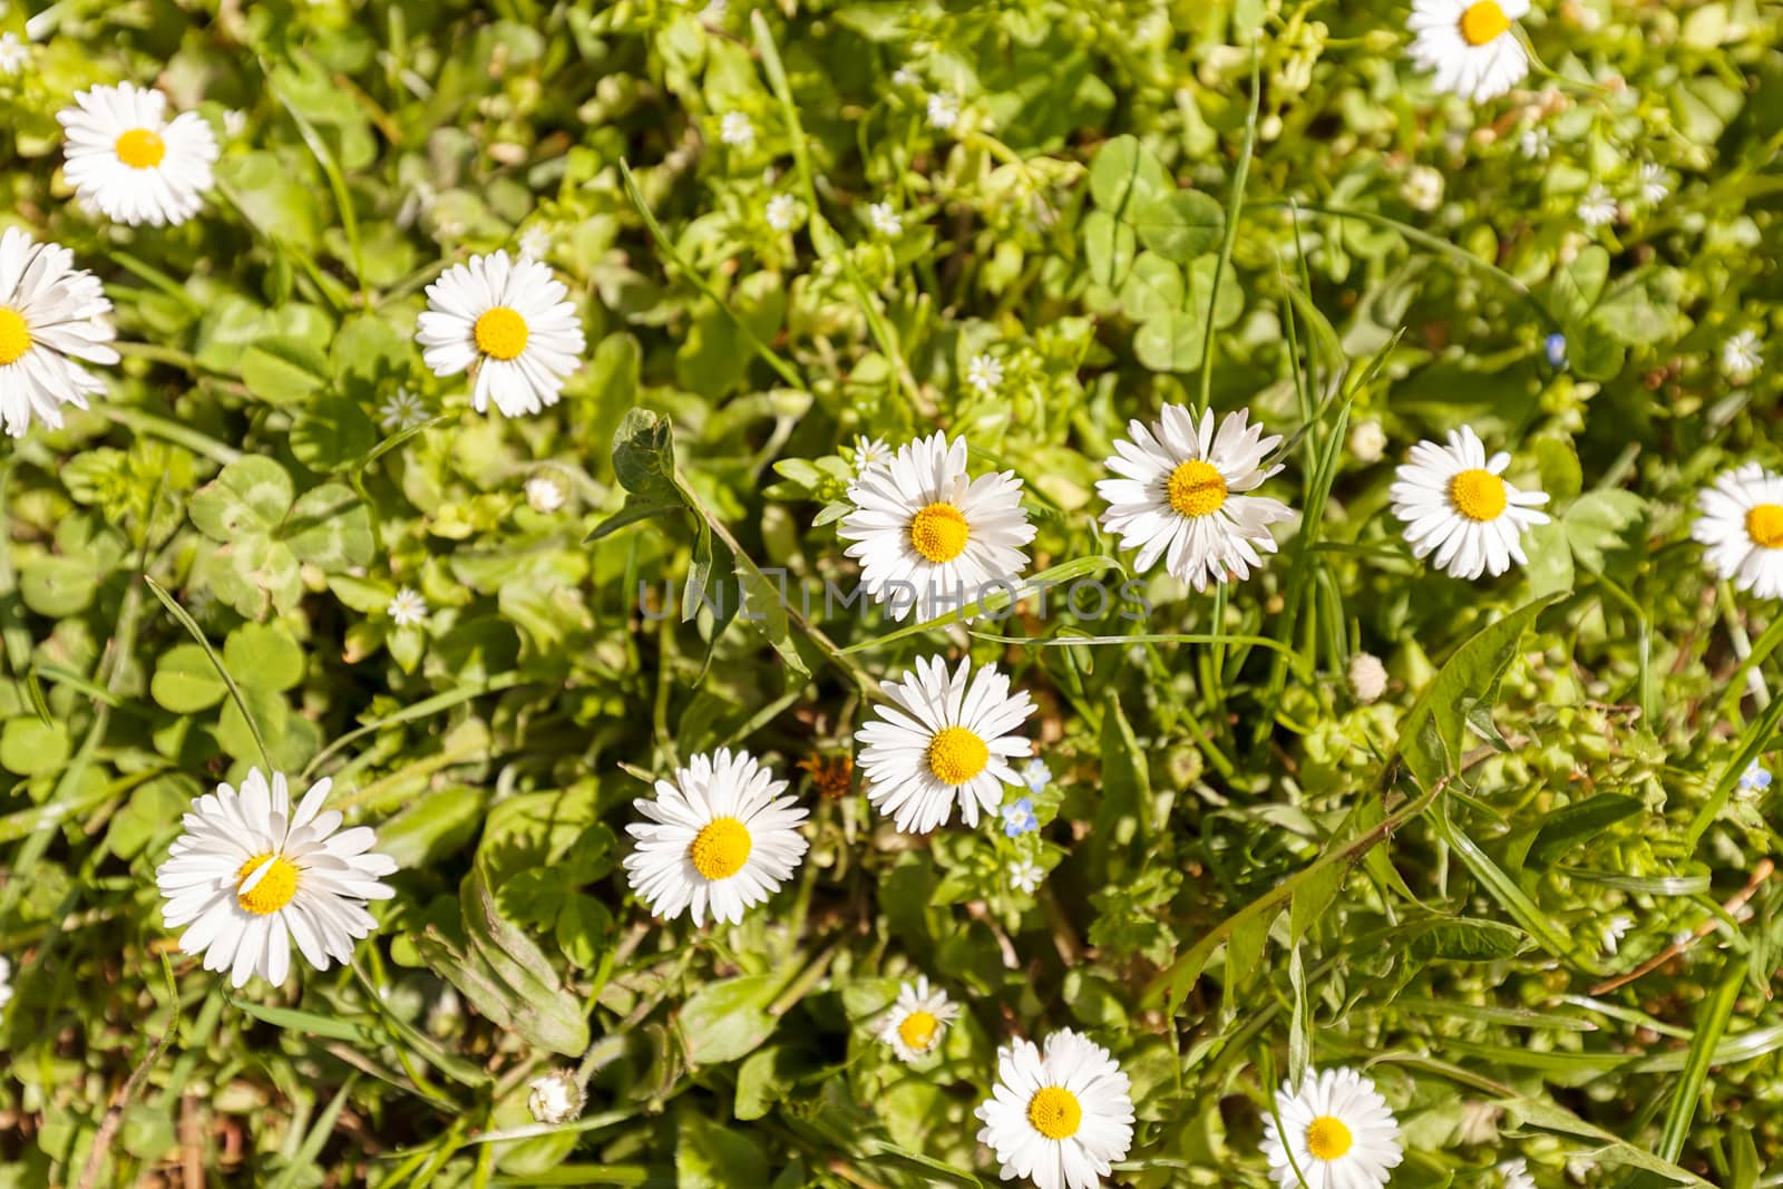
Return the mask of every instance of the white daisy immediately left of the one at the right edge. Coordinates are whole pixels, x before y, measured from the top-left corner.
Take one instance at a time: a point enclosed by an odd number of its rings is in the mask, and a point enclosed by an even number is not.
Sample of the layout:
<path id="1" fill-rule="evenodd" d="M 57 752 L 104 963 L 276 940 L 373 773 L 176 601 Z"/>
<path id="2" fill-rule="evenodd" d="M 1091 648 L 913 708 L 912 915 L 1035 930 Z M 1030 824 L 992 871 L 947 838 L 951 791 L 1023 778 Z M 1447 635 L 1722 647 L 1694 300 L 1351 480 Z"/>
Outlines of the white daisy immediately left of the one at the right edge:
<path id="1" fill-rule="evenodd" d="M 1389 488 L 1393 515 L 1405 522 L 1412 556 L 1435 553 L 1435 567 L 1455 578 L 1500 576 L 1510 563 L 1528 565 L 1521 537 L 1535 524 L 1548 524 L 1537 512 L 1546 492 L 1523 492 L 1500 478 L 1510 455 L 1485 456 L 1471 426 L 1451 430 L 1448 446 L 1419 442 L 1412 460 L 1394 474 Z"/>

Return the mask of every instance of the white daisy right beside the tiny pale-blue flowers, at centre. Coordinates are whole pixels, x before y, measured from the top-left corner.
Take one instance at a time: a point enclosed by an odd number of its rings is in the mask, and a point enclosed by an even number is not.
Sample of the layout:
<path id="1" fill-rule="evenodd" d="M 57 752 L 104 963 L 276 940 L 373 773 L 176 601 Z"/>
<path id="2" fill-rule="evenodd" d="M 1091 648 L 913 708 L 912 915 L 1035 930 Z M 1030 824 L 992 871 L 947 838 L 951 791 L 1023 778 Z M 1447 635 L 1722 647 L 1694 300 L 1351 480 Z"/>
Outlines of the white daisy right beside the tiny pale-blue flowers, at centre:
<path id="1" fill-rule="evenodd" d="M 883 681 L 888 706 L 875 706 L 854 738 L 861 745 L 867 799 L 892 815 L 904 834 L 927 834 L 954 816 L 966 825 L 995 813 L 1004 784 L 1020 784 L 1009 765 L 1032 749 L 1016 727 L 1034 713 L 1027 692 L 1011 693 L 1009 677 L 986 665 L 954 672 L 940 656 L 918 658 L 902 681 Z"/>

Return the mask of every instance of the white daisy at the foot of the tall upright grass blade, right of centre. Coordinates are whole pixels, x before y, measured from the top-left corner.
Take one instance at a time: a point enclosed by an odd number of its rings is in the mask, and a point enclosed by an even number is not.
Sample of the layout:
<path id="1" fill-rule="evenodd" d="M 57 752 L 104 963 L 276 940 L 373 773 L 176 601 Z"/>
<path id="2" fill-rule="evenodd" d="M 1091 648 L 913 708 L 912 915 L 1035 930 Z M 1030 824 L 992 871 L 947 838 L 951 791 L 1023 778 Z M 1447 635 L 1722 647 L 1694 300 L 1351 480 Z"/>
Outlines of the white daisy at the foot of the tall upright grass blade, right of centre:
<path id="1" fill-rule="evenodd" d="M 1127 437 L 1104 463 L 1118 478 L 1098 480 L 1097 492 L 1109 503 L 1102 526 L 1139 551 L 1138 569 L 1164 558 L 1171 576 L 1207 590 L 1209 579 L 1250 578 L 1261 554 L 1275 553 L 1269 524 L 1293 512 L 1280 499 L 1246 492 L 1282 469 L 1262 463 L 1278 435 L 1262 437 L 1243 408 L 1227 414 L 1216 435 L 1212 410 L 1196 426 L 1184 405 L 1164 405 L 1150 428 L 1129 421 Z"/>

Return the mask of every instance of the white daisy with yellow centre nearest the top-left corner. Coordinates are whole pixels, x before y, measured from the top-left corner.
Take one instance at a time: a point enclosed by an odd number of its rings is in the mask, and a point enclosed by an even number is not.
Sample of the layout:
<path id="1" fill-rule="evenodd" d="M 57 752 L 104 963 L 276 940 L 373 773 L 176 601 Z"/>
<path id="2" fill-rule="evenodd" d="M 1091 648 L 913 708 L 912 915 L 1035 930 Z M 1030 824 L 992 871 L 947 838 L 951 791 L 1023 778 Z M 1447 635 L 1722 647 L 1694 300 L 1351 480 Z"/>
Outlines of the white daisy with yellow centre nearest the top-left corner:
<path id="1" fill-rule="evenodd" d="M 216 184 L 218 141 L 198 112 L 168 119 L 168 96 L 123 82 L 75 91 L 55 118 L 68 130 L 62 175 L 107 219 L 185 223 Z"/>

